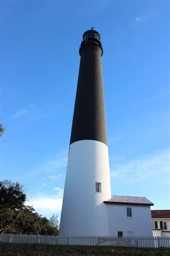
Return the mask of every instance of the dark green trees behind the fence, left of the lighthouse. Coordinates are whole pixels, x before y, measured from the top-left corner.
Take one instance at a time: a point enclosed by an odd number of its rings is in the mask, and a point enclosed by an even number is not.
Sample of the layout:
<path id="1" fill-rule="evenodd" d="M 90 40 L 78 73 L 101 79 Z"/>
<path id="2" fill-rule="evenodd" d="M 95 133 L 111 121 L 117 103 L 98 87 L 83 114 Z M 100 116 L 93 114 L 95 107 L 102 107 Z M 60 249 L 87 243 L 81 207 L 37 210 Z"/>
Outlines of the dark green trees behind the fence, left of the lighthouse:
<path id="1" fill-rule="evenodd" d="M 18 182 L 0 181 L 0 233 L 57 235 L 57 216 L 49 221 L 25 205 L 26 192 Z"/>

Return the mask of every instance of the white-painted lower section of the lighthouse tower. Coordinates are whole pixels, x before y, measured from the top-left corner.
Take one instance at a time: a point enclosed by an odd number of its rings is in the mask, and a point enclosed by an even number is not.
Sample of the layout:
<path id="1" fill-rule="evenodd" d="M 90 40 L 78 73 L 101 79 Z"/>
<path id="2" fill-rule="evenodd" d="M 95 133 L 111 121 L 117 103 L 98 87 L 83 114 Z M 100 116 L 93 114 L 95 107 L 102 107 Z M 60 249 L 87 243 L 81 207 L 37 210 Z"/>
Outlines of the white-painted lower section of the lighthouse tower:
<path id="1" fill-rule="evenodd" d="M 100 192 L 95 183 L 100 183 Z M 70 145 L 59 235 L 108 235 L 111 198 L 108 147 L 95 140 Z"/>

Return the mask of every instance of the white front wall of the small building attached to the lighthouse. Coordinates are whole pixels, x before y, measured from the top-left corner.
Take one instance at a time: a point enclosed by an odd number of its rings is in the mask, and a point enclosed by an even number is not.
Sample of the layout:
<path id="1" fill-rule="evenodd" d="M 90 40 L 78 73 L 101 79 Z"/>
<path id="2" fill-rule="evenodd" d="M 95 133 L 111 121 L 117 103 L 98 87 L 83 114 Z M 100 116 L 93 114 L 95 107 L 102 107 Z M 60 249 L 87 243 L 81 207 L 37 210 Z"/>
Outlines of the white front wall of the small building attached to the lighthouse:
<path id="1" fill-rule="evenodd" d="M 127 217 L 127 207 L 132 207 L 132 218 Z M 133 232 L 133 236 L 152 236 L 150 206 L 121 205 L 107 203 L 109 235 L 117 236 L 118 231 Z"/>

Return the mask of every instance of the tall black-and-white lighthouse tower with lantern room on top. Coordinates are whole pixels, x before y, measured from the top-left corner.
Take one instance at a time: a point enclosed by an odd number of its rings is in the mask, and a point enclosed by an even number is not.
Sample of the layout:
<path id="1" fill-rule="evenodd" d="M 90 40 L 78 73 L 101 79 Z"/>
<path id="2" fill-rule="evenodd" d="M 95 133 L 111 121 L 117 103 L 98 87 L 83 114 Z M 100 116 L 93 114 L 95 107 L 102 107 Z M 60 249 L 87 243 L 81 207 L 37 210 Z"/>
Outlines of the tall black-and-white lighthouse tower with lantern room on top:
<path id="1" fill-rule="evenodd" d="M 83 34 L 60 235 L 108 235 L 111 198 L 100 34 Z"/>

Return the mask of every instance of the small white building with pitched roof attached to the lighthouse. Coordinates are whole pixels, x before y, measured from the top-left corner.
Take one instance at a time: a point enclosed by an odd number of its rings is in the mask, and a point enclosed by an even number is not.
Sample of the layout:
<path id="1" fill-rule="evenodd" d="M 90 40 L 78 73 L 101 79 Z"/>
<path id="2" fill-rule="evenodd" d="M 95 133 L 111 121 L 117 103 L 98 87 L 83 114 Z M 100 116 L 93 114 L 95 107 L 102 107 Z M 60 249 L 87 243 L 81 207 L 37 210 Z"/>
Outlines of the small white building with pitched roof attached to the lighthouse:
<path id="1" fill-rule="evenodd" d="M 109 236 L 152 236 L 151 207 L 146 197 L 112 196 L 104 201 Z"/>

